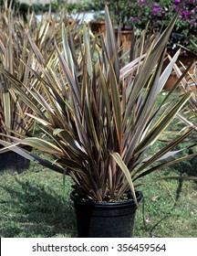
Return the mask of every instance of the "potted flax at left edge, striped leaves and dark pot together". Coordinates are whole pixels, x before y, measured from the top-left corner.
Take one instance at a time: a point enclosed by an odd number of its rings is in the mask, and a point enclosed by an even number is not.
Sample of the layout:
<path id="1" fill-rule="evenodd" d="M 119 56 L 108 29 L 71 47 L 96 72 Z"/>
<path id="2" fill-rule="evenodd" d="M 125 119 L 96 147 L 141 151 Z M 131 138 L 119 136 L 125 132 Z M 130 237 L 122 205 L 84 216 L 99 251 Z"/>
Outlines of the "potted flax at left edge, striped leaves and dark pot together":
<path id="1" fill-rule="evenodd" d="M 28 57 L 26 53 L 27 38 L 25 39 L 24 34 L 21 34 L 21 27 L 14 22 L 9 12 L 3 13 L 1 28 L 3 33 L 0 36 L 0 65 L 10 75 L 27 85 L 31 80 L 31 73 L 22 67 L 22 61 L 28 64 L 32 61 L 32 50 L 28 52 Z M 20 62 L 19 59 L 22 61 Z M 9 136 L 15 134 L 16 137 L 21 137 L 31 132 L 34 119 L 27 116 L 26 112 L 32 113 L 32 110 L 16 96 L 5 75 L 0 74 L 0 148 L 11 143 Z M 31 147 L 26 146 L 26 150 L 30 151 Z M 9 150 L 0 154 L 0 163 L 0 171 L 19 172 L 29 166 L 29 160 Z"/>

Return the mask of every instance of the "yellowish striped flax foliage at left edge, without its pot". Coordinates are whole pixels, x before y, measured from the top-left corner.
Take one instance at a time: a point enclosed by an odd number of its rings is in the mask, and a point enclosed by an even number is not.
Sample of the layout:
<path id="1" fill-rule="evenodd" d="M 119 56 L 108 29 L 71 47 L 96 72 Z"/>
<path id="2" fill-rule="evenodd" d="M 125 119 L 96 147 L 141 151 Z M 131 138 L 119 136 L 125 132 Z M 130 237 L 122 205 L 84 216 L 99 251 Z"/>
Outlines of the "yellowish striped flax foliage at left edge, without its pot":
<path id="1" fill-rule="evenodd" d="M 33 80 L 31 80 L 30 70 L 26 69 L 22 61 L 28 65 L 33 65 L 35 68 L 36 66 L 32 62 L 33 51 L 27 51 L 26 49 L 28 41 L 25 38 L 23 27 L 16 22 L 11 13 L 3 13 L 1 25 L 0 65 L 27 86 L 29 82 L 33 83 Z M 36 82 L 35 79 L 34 82 Z M 20 100 L 10 84 L 10 80 L 1 73 L 0 138 L 8 142 L 10 142 L 10 139 L 7 135 L 12 134 L 12 131 L 25 134 L 30 131 L 34 123 L 34 119 L 26 115 L 26 112 L 32 113 L 32 110 Z"/>

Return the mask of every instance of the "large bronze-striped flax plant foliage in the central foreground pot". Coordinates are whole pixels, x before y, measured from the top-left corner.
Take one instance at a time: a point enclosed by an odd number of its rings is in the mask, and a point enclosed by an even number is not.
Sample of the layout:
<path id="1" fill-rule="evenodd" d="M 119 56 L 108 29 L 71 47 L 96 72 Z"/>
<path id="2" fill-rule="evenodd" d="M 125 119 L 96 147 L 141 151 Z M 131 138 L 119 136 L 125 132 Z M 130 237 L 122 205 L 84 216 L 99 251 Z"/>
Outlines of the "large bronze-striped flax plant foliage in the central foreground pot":
<path id="1" fill-rule="evenodd" d="M 144 176 L 196 155 L 171 158 L 178 153 L 173 149 L 192 133 L 192 129 L 181 133 L 153 155 L 149 153 L 192 92 L 170 100 L 170 91 L 158 103 L 179 55 L 178 51 L 161 72 L 176 16 L 146 52 L 143 51 L 143 34 L 139 58 L 124 67 L 119 64 L 108 7 L 105 18 L 106 37 L 90 37 L 84 25 L 83 40 L 78 48 L 73 47 L 72 37 L 63 26 L 62 45 L 55 44 L 57 61 L 53 69 L 41 61 L 41 53 L 29 37 L 39 72 L 26 67 L 41 82 L 42 96 L 36 88 L 27 89 L 26 84 L 1 68 L 16 95 L 34 112 L 26 114 L 40 124 L 43 134 L 43 137 L 23 140 L 13 136 L 15 144 L 10 144 L 9 148 L 17 151 L 18 144 L 28 144 L 51 155 L 54 160 L 49 162 L 36 154 L 28 154 L 30 159 L 71 176 L 80 197 L 113 202 L 130 190 L 137 204 L 135 189 L 145 183 Z M 31 94 L 32 101 L 22 88 Z"/>

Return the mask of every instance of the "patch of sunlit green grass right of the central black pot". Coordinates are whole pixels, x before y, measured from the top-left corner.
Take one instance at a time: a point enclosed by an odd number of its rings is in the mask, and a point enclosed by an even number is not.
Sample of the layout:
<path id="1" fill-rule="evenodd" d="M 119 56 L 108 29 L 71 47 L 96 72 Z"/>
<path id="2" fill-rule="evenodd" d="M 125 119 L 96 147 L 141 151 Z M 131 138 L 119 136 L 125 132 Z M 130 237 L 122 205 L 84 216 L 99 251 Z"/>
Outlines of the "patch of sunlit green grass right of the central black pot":
<path id="1" fill-rule="evenodd" d="M 177 174 L 177 171 L 171 169 L 171 174 L 173 173 Z M 144 205 L 140 206 L 137 213 L 137 237 L 197 237 L 196 183 L 182 180 L 161 181 L 142 187 L 141 191 L 144 194 Z M 150 220 L 150 223 L 146 220 Z"/>

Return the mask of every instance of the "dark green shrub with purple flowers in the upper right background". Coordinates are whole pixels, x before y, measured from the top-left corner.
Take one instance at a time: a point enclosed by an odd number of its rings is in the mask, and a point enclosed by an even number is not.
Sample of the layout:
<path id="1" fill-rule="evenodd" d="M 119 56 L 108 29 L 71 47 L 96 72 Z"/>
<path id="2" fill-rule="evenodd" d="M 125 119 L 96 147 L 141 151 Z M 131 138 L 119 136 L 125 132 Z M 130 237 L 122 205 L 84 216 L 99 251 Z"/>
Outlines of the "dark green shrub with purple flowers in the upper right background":
<path id="1" fill-rule="evenodd" d="M 167 27 L 172 16 L 181 6 L 170 47 L 182 45 L 197 51 L 194 47 L 197 40 L 197 0 L 109 0 L 104 2 L 109 4 L 114 22 L 117 25 L 120 24 L 123 29 L 132 29 L 133 25 L 144 29 L 149 23 L 149 28 L 153 32 Z"/>

